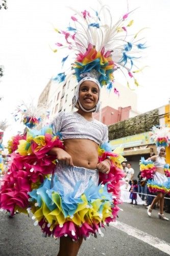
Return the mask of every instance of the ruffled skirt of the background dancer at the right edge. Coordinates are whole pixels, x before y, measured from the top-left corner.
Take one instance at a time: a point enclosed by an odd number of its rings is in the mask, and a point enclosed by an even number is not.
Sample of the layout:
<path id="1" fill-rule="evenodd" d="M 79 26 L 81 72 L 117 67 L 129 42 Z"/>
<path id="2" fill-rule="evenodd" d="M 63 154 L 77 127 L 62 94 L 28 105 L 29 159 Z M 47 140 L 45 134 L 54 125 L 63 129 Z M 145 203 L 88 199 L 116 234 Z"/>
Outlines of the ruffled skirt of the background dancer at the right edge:
<path id="1" fill-rule="evenodd" d="M 170 178 L 165 174 L 156 172 L 152 180 L 148 180 L 147 186 L 151 193 L 161 192 L 170 195 Z"/>

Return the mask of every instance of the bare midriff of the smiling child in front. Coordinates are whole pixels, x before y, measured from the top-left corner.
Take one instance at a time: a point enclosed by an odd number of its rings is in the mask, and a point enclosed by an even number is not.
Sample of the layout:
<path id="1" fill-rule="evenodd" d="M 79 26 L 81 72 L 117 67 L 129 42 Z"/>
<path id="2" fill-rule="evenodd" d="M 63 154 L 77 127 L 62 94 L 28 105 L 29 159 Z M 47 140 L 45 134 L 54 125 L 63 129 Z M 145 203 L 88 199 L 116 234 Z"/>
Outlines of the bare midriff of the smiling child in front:
<path id="1" fill-rule="evenodd" d="M 65 139 L 64 146 L 74 166 L 96 169 L 99 147 L 96 142 L 89 139 Z"/>

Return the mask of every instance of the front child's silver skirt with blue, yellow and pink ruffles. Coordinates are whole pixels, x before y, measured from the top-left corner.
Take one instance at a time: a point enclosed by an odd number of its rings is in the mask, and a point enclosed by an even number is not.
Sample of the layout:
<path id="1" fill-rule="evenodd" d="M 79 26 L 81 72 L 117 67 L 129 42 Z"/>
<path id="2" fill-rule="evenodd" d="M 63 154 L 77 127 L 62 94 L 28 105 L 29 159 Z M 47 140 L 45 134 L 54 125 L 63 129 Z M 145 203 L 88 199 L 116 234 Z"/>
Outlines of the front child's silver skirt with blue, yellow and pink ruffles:
<path id="1" fill-rule="evenodd" d="M 29 195 L 32 219 L 48 236 L 77 240 L 96 236 L 96 231 L 103 236 L 100 227 L 113 219 L 112 193 L 107 184 L 99 184 L 97 169 L 58 165 L 53 179 L 45 179 Z"/>

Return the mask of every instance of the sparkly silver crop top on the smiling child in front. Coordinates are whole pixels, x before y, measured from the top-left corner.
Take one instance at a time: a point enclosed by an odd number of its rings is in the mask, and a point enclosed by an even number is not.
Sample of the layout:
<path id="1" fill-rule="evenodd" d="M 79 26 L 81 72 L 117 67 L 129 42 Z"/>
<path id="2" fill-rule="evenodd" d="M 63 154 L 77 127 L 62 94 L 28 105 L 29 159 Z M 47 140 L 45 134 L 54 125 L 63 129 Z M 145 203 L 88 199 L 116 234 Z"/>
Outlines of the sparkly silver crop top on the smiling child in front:
<path id="1" fill-rule="evenodd" d="M 108 127 L 98 120 L 86 120 L 77 112 L 60 112 L 53 120 L 53 133 L 62 139 L 89 139 L 99 145 L 108 142 Z"/>

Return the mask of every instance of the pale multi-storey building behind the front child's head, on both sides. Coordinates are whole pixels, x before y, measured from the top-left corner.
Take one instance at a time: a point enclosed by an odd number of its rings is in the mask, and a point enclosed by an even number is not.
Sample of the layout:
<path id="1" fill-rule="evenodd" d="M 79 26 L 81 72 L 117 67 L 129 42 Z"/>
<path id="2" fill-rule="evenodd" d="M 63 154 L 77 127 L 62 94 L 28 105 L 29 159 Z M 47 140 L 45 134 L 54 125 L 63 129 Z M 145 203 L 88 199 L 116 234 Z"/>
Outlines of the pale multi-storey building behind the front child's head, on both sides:
<path id="1" fill-rule="evenodd" d="M 76 78 L 72 78 L 68 83 L 58 83 L 54 80 L 50 80 L 47 83 L 39 96 L 38 104 L 43 103 L 47 106 L 50 111 L 50 120 L 60 111 L 74 111 L 72 107 L 72 97 L 75 94 L 76 85 Z M 115 82 L 115 87 L 119 91 L 119 96 L 114 94 L 113 91 L 109 93 L 105 88 L 102 88 L 102 108 L 110 106 L 111 108 L 118 109 L 119 106 L 122 108 L 131 106 L 129 117 L 137 116 L 139 112 L 137 112 L 136 93 L 117 82 Z"/>

